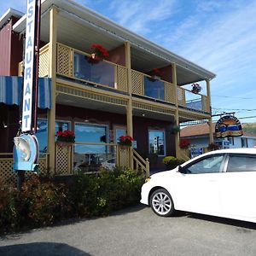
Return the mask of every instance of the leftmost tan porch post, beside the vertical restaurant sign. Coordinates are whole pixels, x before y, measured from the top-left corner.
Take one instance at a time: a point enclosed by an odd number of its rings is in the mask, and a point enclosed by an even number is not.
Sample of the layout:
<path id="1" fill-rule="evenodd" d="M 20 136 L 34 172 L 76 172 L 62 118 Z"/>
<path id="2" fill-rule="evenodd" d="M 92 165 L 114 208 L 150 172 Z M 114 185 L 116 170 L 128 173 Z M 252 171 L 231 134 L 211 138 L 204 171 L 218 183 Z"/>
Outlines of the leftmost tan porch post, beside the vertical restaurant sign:
<path id="1" fill-rule="evenodd" d="M 48 110 L 48 153 L 49 172 L 55 172 L 55 92 L 56 92 L 56 43 L 57 43 L 57 9 L 49 12 L 49 77 L 51 78 L 51 109 Z"/>

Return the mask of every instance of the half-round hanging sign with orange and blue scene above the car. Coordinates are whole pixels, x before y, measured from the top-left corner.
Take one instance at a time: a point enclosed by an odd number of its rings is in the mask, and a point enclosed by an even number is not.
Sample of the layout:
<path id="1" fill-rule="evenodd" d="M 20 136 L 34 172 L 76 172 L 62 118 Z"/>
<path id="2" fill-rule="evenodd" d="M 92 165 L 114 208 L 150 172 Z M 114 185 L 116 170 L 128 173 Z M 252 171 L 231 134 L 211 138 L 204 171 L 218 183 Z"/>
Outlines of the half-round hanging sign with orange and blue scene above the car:
<path id="1" fill-rule="evenodd" d="M 225 115 L 218 119 L 215 125 L 215 137 L 242 136 L 242 128 L 239 119 L 233 115 Z"/>

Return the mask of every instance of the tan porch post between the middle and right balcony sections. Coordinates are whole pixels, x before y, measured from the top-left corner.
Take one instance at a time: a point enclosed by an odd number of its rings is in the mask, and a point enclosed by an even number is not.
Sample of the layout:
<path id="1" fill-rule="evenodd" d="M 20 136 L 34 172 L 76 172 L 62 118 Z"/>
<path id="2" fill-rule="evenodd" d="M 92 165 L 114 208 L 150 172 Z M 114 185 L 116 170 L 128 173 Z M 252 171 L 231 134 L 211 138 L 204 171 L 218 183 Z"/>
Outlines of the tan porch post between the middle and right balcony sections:
<path id="1" fill-rule="evenodd" d="M 177 73 L 176 73 L 176 63 L 172 63 L 172 84 L 175 86 L 175 125 L 179 126 L 179 115 L 178 115 L 178 104 L 177 104 Z M 179 148 L 179 132 L 175 134 L 175 151 L 176 157 L 180 157 L 180 148 Z"/>

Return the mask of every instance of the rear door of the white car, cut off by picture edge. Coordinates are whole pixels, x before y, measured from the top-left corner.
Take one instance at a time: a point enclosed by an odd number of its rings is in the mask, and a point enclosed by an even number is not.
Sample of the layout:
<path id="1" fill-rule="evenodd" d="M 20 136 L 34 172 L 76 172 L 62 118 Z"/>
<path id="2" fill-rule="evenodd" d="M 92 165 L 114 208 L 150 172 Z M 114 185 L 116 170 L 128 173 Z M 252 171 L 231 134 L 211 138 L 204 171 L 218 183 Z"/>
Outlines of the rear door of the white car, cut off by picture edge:
<path id="1" fill-rule="evenodd" d="M 256 219 L 256 155 L 229 154 L 222 176 L 221 204 L 225 217 Z"/>

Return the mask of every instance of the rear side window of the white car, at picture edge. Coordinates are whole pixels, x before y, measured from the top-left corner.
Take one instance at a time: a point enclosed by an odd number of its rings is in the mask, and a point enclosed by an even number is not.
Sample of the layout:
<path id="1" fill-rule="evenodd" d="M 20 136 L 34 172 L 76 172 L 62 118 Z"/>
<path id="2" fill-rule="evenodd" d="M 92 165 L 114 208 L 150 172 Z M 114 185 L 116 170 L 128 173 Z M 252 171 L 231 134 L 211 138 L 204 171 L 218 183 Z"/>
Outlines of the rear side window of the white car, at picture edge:
<path id="1" fill-rule="evenodd" d="M 230 154 L 227 172 L 256 172 L 256 157 L 250 154 Z"/>

